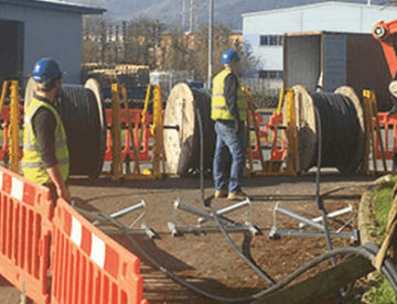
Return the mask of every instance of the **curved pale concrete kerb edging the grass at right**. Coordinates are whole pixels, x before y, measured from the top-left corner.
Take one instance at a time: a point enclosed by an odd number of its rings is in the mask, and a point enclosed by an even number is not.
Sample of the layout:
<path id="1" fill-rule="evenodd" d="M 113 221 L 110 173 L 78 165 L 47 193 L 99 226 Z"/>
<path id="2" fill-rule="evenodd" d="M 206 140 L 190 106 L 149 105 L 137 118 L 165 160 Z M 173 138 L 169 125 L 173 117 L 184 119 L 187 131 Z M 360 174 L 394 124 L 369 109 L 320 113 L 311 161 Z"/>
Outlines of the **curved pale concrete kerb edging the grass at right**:
<path id="1" fill-rule="evenodd" d="M 384 183 L 390 181 L 391 175 L 385 175 L 373 182 L 362 195 L 360 206 L 358 206 L 358 214 L 357 214 L 357 226 L 360 231 L 360 239 L 361 243 L 374 242 L 376 243 L 375 238 L 371 236 L 371 231 L 375 229 L 375 224 L 371 217 L 371 199 L 374 193 L 374 187 L 379 186 Z M 374 271 L 367 275 L 367 290 L 369 290 L 373 285 L 377 282 L 377 271 Z M 367 297 L 366 293 L 362 296 L 362 303 L 371 303 Z"/>

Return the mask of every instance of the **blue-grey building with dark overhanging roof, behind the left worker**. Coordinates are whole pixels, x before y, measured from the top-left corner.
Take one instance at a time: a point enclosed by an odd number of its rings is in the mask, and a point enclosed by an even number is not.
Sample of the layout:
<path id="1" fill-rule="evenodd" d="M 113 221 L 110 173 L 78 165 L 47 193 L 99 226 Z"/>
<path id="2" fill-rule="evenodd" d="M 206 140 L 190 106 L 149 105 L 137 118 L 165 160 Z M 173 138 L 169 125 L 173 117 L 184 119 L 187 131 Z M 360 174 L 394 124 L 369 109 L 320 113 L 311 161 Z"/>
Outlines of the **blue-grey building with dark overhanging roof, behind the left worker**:
<path id="1" fill-rule="evenodd" d="M 65 83 L 79 83 L 82 15 L 104 12 L 61 1 L 0 0 L 0 79 L 24 83 L 40 58 L 53 57 Z"/>

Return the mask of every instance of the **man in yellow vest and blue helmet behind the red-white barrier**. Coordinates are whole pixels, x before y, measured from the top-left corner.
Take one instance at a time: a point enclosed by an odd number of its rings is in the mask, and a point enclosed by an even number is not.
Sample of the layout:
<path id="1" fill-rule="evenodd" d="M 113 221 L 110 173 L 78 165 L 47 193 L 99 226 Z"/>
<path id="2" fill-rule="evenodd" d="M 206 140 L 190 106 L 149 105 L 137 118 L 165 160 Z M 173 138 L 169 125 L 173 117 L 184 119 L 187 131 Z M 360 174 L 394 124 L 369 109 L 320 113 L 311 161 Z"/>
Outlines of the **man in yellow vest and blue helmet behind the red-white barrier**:
<path id="1" fill-rule="evenodd" d="M 53 202 L 57 197 L 71 199 L 65 183 L 69 169 L 66 133 L 53 105 L 61 97 L 62 75 L 58 63 L 52 58 L 35 64 L 32 73 L 35 94 L 24 113 L 23 175 L 49 187 Z"/>

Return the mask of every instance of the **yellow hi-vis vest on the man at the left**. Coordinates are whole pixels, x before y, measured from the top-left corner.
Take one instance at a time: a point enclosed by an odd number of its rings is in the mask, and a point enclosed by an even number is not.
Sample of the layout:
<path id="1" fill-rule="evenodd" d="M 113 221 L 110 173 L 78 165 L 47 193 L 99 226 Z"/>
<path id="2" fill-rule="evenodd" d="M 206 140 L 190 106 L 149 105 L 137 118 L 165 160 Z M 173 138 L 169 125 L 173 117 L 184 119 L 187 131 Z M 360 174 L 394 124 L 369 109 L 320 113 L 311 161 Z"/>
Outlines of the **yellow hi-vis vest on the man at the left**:
<path id="1" fill-rule="evenodd" d="M 55 127 L 55 155 L 57 164 L 61 170 L 61 175 L 66 181 L 69 169 L 69 158 L 66 144 L 66 132 L 62 123 L 60 115 L 49 104 L 40 101 L 36 98 L 29 104 L 24 116 L 24 131 L 23 131 L 23 158 L 22 158 L 22 172 L 23 176 L 30 181 L 39 184 L 51 182 L 51 177 L 46 172 L 46 167 L 41 158 L 39 141 L 33 132 L 32 118 L 40 107 L 50 109 L 56 120 Z"/>

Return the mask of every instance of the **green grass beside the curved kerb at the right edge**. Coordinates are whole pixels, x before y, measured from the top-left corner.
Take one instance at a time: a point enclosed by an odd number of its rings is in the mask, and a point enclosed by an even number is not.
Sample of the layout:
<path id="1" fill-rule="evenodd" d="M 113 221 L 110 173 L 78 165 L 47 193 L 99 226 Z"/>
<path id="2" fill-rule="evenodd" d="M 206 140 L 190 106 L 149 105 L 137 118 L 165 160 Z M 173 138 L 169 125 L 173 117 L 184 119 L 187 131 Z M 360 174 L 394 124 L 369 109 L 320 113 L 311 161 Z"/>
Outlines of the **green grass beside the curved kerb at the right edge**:
<path id="1" fill-rule="evenodd" d="M 376 228 L 371 232 L 373 237 L 382 243 L 385 239 L 388 214 L 393 203 L 393 188 L 396 177 L 391 177 L 389 182 L 377 185 L 374 188 L 372 199 L 373 215 Z M 378 274 L 377 283 L 367 292 L 367 298 L 371 303 L 391 304 L 397 303 L 397 296 L 389 282 L 383 274 Z"/>

